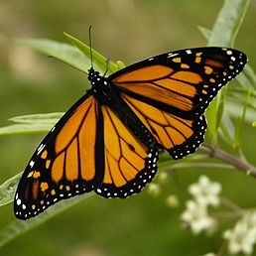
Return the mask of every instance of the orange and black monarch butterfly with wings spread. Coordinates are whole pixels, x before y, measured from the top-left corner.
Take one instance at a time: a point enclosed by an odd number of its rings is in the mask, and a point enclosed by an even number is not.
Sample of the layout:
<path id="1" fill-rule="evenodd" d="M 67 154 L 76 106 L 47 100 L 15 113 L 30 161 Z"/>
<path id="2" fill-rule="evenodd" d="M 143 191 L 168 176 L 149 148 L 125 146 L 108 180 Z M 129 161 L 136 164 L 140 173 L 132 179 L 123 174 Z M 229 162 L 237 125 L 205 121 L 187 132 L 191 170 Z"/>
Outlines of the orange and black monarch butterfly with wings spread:
<path id="1" fill-rule="evenodd" d="M 239 51 L 212 47 L 152 57 L 108 77 L 91 67 L 91 88 L 32 156 L 15 194 L 16 217 L 84 192 L 141 192 L 157 174 L 160 150 L 177 160 L 199 147 L 204 110 L 246 62 Z"/>

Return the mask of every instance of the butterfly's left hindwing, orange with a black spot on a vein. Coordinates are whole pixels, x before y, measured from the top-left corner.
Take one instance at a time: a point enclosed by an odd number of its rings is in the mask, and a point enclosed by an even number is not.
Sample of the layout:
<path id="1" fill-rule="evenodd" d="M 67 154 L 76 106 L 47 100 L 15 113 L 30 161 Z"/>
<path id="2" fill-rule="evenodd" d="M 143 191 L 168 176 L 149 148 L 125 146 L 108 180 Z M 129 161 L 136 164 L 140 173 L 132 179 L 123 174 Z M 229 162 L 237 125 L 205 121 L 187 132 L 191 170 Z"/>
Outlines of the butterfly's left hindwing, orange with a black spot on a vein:
<path id="1" fill-rule="evenodd" d="M 152 181 L 157 173 L 158 149 L 145 146 L 109 107 L 102 106 L 102 114 L 105 172 L 95 192 L 124 198 Z"/>

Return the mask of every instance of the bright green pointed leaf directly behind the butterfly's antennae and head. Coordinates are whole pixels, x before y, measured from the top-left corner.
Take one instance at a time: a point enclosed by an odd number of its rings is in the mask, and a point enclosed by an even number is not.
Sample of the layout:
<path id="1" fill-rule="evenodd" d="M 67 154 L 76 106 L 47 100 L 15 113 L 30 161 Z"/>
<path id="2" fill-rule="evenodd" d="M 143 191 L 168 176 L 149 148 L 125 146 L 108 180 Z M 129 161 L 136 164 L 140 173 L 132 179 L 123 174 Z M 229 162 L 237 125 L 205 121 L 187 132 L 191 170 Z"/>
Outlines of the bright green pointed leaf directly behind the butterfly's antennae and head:
<path id="1" fill-rule="evenodd" d="M 73 44 L 73 46 L 75 46 L 89 60 L 89 64 L 87 64 L 87 69 L 89 69 L 91 67 L 90 48 L 88 46 L 86 46 L 85 44 L 83 44 L 78 39 L 68 35 L 67 33 L 64 33 L 64 36 L 70 41 L 70 43 Z M 105 72 L 106 67 L 107 67 L 107 59 L 105 57 L 101 56 L 99 53 L 97 53 L 94 50 L 91 50 L 91 52 L 92 52 L 93 67 L 96 70 Z M 117 69 L 118 69 L 117 65 L 114 64 L 113 62 L 109 61 L 107 75 L 116 71 Z"/>

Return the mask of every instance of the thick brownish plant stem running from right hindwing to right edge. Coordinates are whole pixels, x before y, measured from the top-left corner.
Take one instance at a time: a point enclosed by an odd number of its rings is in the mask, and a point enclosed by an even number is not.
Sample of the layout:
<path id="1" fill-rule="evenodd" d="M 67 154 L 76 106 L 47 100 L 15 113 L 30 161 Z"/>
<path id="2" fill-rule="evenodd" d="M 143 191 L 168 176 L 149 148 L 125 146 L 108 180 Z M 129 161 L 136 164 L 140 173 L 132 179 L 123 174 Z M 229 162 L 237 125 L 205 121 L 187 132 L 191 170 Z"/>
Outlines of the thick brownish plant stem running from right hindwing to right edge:
<path id="1" fill-rule="evenodd" d="M 233 166 L 236 170 L 239 170 L 246 175 L 256 178 L 256 168 L 247 162 L 245 158 L 233 156 L 220 148 L 212 148 L 208 145 L 202 144 L 199 148 L 203 152 L 207 153 L 209 157 L 220 159 L 223 162 Z"/>

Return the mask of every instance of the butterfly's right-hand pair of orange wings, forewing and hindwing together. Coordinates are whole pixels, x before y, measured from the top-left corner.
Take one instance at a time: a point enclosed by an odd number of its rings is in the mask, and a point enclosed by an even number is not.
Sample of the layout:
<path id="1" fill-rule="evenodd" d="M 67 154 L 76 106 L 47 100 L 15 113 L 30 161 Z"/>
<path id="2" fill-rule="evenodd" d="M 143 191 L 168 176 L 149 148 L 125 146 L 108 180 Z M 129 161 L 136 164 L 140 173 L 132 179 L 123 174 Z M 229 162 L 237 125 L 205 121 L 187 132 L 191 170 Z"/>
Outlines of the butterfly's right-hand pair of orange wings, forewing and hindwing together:
<path id="1" fill-rule="evenodd" d="M 205 108 L 244 64 L 239 51 L 191 49 L 130 65 L 109 78 L 157 142 L 181 159 L 203 141 Z"/>

